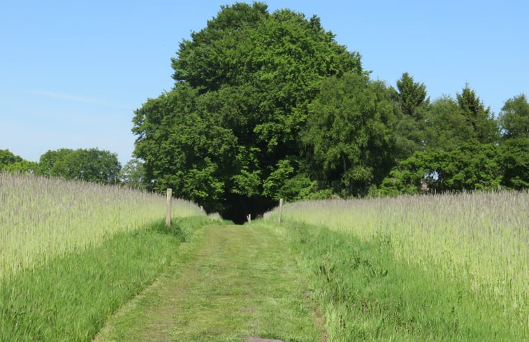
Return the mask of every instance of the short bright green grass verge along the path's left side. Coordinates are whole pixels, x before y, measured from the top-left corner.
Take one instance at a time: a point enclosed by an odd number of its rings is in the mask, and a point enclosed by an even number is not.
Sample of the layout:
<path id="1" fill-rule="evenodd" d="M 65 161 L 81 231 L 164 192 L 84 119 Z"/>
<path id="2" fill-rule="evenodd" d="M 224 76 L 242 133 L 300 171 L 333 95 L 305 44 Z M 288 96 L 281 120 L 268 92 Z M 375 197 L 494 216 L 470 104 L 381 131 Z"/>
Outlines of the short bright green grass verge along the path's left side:
<path id="1" fill-rule="evenodd" d="M 150 285 L 207 218 L 116 234 L 0 284 L 0 341 L 92 341 L 108 317 Z"/>

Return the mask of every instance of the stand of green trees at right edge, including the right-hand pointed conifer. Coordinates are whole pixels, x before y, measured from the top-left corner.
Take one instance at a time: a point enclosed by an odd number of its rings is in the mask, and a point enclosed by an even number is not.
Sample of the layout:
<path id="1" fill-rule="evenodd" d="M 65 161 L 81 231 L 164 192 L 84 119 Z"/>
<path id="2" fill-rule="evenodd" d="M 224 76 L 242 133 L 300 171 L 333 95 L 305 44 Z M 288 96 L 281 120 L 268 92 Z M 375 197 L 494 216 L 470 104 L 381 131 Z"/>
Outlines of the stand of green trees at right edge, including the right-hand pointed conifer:
<path id="1" fill-rule="evenodd" d="M 421 150 L 399 162 L 370 193 L 523 189 L 529 185 L 529 104 L 521 94 L 498 119 L 468 87 L 427 112 Z"/>

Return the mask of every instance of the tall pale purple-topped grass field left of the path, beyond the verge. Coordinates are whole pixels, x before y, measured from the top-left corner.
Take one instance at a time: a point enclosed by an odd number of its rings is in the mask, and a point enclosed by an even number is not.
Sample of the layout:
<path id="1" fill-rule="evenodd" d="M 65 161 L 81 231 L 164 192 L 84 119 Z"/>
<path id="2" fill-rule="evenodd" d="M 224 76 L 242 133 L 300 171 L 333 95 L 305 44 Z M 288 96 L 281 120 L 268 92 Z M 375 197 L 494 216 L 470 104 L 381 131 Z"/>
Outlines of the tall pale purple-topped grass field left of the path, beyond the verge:
<path id="1" fill-rule="evenodd" d="M 166 198 L 124 187 L 0 173 L 0 280 L 165 217 Z M 173 200 L 173 216 L 201 215 Z"/>

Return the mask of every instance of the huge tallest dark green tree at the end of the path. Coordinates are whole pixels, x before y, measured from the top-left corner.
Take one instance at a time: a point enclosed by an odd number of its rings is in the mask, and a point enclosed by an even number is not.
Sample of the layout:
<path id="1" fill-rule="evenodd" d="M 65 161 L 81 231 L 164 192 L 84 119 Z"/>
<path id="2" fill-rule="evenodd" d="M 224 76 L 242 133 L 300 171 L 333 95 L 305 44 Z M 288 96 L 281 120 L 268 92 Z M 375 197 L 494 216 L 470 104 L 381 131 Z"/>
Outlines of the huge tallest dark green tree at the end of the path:
<path id="1" fill-rule="evenodd" d="M 270 205 L 272 191 L 310 183 L 296 178 L 307 108 L 325 78 L 363 72 L 358 53 L 318 17 L 269 13 L 259 2 L 222 6 L 172 65 L 173 90 L 136 111 L 134 155 L 153 190 L 172 187 L 224 213 L 249 213 Z"/>

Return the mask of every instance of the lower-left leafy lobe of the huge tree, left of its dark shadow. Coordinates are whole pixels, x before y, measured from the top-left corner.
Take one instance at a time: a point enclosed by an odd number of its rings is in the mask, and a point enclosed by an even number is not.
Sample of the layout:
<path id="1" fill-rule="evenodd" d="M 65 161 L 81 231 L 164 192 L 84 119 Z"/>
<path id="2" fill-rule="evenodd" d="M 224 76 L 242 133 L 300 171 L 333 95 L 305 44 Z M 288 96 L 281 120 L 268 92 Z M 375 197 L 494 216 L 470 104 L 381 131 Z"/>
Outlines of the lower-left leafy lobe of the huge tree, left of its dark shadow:
<path id="1" fill-rule="evenodd" d="M 214 99 L 213 99 L 214 100 Z M 151 99 L 136 111 L 134 131 L 140 135 L 134 154 L 145 160 L 145 178 L 152 190 L 173 188 L 178 197 L 222 209 L 222 200 L 238 150 L 231 130 L 210 115 L 211 97 L 199 97 L 187 85 Z"/>

